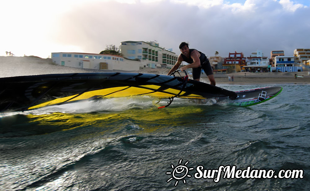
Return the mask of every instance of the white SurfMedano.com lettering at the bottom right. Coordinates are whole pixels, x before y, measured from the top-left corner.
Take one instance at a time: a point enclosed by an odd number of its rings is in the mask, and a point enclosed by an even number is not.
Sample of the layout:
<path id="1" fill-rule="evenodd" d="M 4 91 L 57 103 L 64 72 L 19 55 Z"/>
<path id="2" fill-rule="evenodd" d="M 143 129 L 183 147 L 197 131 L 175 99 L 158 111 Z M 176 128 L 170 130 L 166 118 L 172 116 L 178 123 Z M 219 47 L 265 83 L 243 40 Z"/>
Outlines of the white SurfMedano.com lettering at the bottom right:
<path id="1" fill-rule="evenodd" d="M 196 179 L 213 179 L 215 183 L 219 182 L 221 175 L 223 174 L 223 179 L 302 179 L 303 170 L 302 169 L 281 169 L 276 173 L 273 169 L 251 169 L 248 166 L 246 169 L 237 168 L 236 165 L 219 166 L 218 169 L 205 169 L 202 165 L 196 167 L 196 173 L 194 177 Z"/>

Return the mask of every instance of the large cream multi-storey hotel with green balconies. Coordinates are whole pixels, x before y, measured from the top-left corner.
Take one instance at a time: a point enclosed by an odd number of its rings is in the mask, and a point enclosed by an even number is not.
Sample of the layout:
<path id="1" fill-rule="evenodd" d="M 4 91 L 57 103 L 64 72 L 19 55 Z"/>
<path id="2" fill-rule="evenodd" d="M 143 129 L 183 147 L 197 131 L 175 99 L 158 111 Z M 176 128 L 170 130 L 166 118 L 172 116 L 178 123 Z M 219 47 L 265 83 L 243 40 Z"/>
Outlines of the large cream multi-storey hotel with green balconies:
<path id="1" fill-rule="evenodd" d="M 124 57 L 138 58 L 148 68 L 172 68 L 178 59 L 172 49 L 162 48 L 155 41 L 123 41 L 119 49 Z"/>

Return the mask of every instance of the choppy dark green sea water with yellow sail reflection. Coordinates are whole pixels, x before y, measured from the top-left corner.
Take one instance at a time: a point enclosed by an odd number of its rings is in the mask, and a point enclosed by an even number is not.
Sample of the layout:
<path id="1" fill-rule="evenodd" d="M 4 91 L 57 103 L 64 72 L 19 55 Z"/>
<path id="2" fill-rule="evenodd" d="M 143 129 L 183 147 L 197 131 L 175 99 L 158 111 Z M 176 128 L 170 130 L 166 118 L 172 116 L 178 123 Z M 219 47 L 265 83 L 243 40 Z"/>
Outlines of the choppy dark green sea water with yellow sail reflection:
<path id="1" fill-rule="evenodd" d="M 250 107 L 119 98 L 2 113 L 0 190 L 310 190 L 310 85 L 281 86 Z M 227 165 L 303 178 L 194 176 Z"/>

